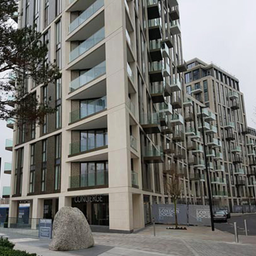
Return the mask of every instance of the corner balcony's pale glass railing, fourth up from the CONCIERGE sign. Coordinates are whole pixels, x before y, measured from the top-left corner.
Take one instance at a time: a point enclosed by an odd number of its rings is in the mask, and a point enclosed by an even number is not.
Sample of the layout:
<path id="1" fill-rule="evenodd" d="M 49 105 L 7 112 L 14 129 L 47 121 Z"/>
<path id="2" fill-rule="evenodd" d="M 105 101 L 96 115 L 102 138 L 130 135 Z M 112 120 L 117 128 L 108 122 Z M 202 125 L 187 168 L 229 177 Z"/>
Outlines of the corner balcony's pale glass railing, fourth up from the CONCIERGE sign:
<path id="1" fill-rule="evenodd" d="M 77 79 L 73 80 L 69 86 L 70 92 L 73 92 L 74 90 L 79 89 L 80 87 L 88 84 L 88 82 L 91 82 L 94 79 L 97 79 L 98 77 L 104 75 L 105 73 L 106 73 L 106 61 L 103 61 L 102 63 L 89 69 L 89 71 L 86 71 L 85 73 L 77 77 Z"/>

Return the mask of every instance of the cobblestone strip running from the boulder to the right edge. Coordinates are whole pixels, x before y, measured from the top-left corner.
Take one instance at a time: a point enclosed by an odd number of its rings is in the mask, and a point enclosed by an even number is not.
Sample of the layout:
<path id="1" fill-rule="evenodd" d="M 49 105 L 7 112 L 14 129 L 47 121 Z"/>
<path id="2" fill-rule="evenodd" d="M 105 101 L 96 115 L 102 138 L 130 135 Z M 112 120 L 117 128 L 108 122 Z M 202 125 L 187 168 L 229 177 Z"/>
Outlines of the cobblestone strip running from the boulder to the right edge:
<path id="1" fill-rule="evenodd" d="M 256 245 L 153 237 L 140 234 L 95 234 L 97 244 L 177 256 L 255 256 Z"/>

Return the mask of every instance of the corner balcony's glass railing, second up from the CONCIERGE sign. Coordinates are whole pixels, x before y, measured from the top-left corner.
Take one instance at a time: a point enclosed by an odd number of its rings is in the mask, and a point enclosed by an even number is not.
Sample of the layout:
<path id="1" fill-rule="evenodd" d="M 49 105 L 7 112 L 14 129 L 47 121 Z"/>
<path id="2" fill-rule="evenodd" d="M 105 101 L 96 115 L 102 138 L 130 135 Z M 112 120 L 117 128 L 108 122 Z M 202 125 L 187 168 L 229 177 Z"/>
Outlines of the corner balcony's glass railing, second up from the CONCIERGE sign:
<path id="1" fill-rule="evenodd" d="M 70 143 L 69 154 L 73 155 L 90 150 L 97 150 L 97 148 L 104 146 L 108 146 L 108 133 L 99 133 L 88 139 L 82 139 L 81 141 Z"/>

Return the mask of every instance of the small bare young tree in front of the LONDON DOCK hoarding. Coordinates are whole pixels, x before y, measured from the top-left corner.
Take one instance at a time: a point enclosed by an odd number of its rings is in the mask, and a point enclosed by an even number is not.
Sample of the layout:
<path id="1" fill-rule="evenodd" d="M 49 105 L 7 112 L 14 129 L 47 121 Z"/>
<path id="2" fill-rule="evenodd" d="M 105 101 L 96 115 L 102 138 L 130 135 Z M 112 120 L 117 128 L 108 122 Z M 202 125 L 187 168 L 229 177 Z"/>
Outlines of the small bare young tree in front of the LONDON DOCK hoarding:
<path id="1" fill-rule="evenodd" d="M 177 229 L 177 200 L 180 198 L 183 191 L 183 183 L 180 180 L 180 174 L 177 170 L 177 165 L 175 164 L 171 171 L 171 177 L 167 177 L 167 193 L 171 196 L 174 201 L 174 211 L 175 211 L 175 228 Z"/>

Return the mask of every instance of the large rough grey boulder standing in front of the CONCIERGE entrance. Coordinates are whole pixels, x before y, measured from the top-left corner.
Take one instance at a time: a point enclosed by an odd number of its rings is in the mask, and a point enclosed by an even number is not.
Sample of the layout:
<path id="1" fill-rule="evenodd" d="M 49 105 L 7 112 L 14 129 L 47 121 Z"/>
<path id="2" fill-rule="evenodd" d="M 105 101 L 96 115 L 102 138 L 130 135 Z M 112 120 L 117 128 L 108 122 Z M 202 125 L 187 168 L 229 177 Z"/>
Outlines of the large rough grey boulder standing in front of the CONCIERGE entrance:
<path id="1" fill-rule="evenodd" d="M 61 208 L 53 221 L 49 249 L 70 251 L 87 249 L 93 245 L 92 231 L 81 210 L 72 207 Z"/>

